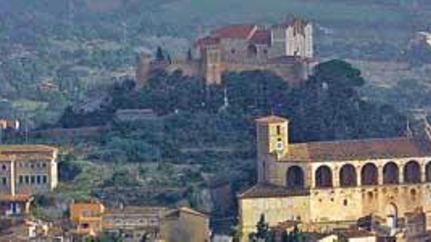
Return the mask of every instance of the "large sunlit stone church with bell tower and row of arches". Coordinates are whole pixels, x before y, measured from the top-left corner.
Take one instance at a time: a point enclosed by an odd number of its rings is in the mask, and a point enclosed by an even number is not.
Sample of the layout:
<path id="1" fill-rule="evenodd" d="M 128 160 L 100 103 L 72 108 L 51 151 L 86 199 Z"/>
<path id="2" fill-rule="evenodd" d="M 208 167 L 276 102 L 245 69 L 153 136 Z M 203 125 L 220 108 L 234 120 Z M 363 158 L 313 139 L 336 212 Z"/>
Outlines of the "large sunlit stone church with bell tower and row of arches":
<path id="1" fill-rule="evenodd" d="M 429 136 L 290 143 L 287 119 L 260 118 L 258 183 L 239 195 L 243 235 L 255 230 L 261 214 L 270 226 L 297 220 L 317 231 L 371 214 L 392 235 L 418 208 L 429 221 L 430 148 Z"/>

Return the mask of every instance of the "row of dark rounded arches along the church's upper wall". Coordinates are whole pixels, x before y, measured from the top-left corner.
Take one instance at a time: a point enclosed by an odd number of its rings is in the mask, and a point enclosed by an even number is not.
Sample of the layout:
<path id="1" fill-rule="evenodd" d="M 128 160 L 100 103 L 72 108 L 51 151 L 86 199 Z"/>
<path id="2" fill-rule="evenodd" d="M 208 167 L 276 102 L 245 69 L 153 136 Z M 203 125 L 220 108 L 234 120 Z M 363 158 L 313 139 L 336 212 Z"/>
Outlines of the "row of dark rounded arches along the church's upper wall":
<path id="1" fill-rule="evenodd" d="M 410 160 L 404 165 L 389 161 L 380 168 L 372 162 L 360 167 L 346 163 L 335 170 L 327 165 L 321 165 L 314 170 L 312 176 L 310 185 L 315 188 L 431 182 L 431 161 L 426 163 L 425 167 L 421 167 L 416 160 Z M 303 167 L 292 165 L 287 169 L 287 187 L 305 188 L 306 179 Z"/>

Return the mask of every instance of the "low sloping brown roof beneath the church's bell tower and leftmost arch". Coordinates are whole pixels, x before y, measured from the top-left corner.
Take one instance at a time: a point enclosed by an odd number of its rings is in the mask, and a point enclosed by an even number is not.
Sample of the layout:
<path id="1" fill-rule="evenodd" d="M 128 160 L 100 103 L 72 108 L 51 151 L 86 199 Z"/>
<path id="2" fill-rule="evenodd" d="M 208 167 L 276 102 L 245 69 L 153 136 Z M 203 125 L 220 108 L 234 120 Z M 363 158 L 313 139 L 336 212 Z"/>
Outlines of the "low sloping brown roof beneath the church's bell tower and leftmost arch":
<path id="1" fill-rule="evenodd" d="M 239 198 L 278 198 L 285 196 L 308 196 L 309 190 L 292 190 L 284 186 L 273 184 L 256 184 L 239 194 Z"/>

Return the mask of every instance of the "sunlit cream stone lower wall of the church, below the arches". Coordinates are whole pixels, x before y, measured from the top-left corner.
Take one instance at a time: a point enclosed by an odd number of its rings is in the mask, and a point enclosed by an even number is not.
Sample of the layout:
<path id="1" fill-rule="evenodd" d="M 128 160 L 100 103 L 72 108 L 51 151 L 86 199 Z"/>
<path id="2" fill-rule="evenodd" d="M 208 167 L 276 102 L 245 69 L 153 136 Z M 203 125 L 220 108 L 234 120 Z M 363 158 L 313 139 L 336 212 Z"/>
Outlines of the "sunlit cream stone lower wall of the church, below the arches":
<path id="1" fill-rule="evenodd" d="M 359 218 L 370 214 L 385 220 L 392 206 L 396 208 L 398 218 L 423 208 L 429 221 L 431 184 L 310 189 L 309 196 L 240 198 L 239 221 L 243 241 L 247 241 L 247 235 L 256 231 L 261 214 L 270 226 L 300 220 L 313 227 L 313 231 L 325 231 L 355 224 Z"/>

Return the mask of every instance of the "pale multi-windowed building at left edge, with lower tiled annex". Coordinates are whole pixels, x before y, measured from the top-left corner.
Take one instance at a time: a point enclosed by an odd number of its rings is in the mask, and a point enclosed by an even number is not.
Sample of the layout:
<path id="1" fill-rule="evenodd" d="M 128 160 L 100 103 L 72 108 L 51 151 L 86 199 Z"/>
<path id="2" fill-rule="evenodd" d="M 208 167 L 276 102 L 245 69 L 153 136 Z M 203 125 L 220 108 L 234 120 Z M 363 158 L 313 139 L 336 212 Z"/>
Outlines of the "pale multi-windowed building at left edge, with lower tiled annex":
<path id="1" fill-rule="evenodd" d="M 31 195 L 58 183 L 57 153 L 45 145 L 0 145 L 0 215 L 28 212 Z"/>

